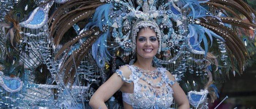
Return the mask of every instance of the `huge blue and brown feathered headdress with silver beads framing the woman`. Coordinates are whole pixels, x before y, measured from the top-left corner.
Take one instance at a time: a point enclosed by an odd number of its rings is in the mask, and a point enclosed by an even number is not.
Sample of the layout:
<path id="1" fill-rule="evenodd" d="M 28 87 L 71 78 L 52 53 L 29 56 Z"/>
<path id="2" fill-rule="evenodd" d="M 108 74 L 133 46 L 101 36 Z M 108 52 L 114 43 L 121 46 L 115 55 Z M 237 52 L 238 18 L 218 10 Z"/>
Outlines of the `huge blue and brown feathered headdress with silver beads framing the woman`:
<path id="1" fill-rule="evenodd" d="M 61 5 L 48 19 L 54 1 Z M 105 69 L 115 69 L 118 57 L 128 63 L 135 48 L 132 38 L 141 28 L 136 25 L 151 21 L 152 25 L 143 25 L 153 27 L 161 37 L 160 55 L 154 62 L 170 69 L 183 88 L 188 84 L 182 81 L 195 79 L 207 84 L 206 90 L 214 80 L 212 73 L 215 75 L 222 66 L 235 72 L 237 62 L 238 73 L 242 74 L 250 57 L 236 30 L 255 31 L 255 14 L 242 0 L 49 0 L 20 25 L 38 29 L 48 23 L 49 40 L 56 53 L 53 59 L 59 64 L 56 70 L 63 74 L 65 85 L 69 81 L 72 85 L 85 57 L 93 57 L 94 61 L 87 61 L 97 64 L 90 68 L 97 69 L 102 78 L 106 78 Z M 81 22 L 84 25 L 79 25 Z M 66 41 L 64 37 L 71 29 L 77 35 Z M 204 82 L 206 77 L 208 82 Z"/>

